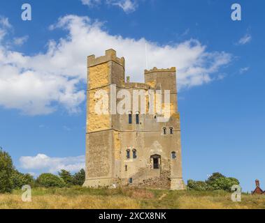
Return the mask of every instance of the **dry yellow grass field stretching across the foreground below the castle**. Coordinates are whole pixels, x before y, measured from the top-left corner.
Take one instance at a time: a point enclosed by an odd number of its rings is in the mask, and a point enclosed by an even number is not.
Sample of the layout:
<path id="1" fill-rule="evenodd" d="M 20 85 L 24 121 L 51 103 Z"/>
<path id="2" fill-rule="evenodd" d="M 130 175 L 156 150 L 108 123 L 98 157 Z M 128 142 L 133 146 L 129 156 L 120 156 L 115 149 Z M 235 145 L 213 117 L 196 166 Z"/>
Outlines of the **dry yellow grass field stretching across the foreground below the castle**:
<path id="1" fill-rule="evenodd" d="M 22 191 L 0 194 L 0 208 L 265 208 L 265 196 L 243 194 L 241 202 L 231 201 L 227 192 L 188 192 L 123 188 L 115 190 L 35 188 L 32 201 L 21 200 Z"/>

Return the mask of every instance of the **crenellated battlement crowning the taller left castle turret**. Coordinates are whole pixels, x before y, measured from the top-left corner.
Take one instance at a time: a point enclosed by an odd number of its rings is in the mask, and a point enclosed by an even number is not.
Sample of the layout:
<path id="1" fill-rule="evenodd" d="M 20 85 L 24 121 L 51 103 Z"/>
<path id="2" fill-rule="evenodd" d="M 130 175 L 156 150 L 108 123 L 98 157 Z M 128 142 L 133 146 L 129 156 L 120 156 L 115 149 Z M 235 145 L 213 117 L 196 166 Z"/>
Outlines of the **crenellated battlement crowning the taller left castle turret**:
<path id="1" fill-rule="evenodd" d="M 101 63 L 106 63 L 108 61 L 114 61 L 123 67 L 125 66 L 124 57 L 119 58 L 117 57 L 116 51 L 114 49 L 107 49 L 105 52 L 105 56 L 96 57 L 94 54 L 87 56 L 87 67 L 89 68 L 92 66 L 99 65 Z"/>

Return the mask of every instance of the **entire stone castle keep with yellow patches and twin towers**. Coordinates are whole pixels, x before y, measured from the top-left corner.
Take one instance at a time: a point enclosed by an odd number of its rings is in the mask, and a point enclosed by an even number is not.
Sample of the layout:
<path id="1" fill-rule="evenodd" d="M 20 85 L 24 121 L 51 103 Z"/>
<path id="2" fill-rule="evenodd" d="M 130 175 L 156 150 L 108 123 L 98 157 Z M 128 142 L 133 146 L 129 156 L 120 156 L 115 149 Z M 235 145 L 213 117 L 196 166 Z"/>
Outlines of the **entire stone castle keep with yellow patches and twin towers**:
<path id="1" fill-rule="evenodd" d="M 113 49 L 105 56 L 87 58 L 87 130 L 85 187 L 119 185 L 183 190 L 176 68 L 145 70 L 145 83 L 125 81 L 124 58 Z M 159 114 L 97 114 L 95 93 L 110 95 L 134 90 L 170 90 L 170 118 L 158 122 Z M 110 97 L 109 97 L 110 98 Z M 122 99 L 117 99 L 117 103 Z M 146 102 L 149 105 L 148 97 Z M 108 101 L 109 107 L 112 102 Z M 132 100 L 131 100 L 132 103 Z M 162 101 L 163 105 L 163 101 Z M 132 110 L 132 109 L 131 109 Z"/>

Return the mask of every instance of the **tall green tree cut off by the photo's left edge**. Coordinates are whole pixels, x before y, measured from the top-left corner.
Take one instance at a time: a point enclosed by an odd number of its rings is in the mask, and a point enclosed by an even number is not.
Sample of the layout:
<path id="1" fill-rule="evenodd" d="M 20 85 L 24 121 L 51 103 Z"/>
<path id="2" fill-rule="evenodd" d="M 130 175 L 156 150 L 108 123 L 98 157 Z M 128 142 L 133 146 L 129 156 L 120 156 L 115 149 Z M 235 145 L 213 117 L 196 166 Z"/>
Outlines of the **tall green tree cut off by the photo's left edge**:
<path id="1" fill-rule="evenodd" d="M 10 155 L 0 147 L 0 193 L 12 191 L 11 176 L 13 170 L 14 167 Z"/>

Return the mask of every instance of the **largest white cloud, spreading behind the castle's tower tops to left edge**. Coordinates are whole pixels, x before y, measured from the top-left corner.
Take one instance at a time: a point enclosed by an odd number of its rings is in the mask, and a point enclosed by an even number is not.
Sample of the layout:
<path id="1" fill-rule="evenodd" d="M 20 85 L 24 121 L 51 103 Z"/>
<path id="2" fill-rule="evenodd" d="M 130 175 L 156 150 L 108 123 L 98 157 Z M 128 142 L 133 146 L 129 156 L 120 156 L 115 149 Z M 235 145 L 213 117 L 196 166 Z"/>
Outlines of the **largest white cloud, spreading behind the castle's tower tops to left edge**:
<path id="1" fill-rule="evenodd" d="M 64 29 L 67 35 L 57 41 L 50 40 L 45 53 L 27 56 L 0 43 L 0 105 L 3 107 L 32 115 L 49 114 L 58 106 L 78 112 L 85 100 L 85 90 L 80 89 L 80 84 L 86 83 L 87 56 L 102 56 L 110 48 L 117 50 L 117 56 L 125 57 L 131 80 L 141 82 L 146 43 L 149 68 L 176 66 L 178 89 L 218 79 L 215 74 L 231 61 L 231 54 L 208 52 L 198 40 L 159 45 L 144 38 L 113 36 L 89 17 L 67 15 L 51 29 Z"/>

